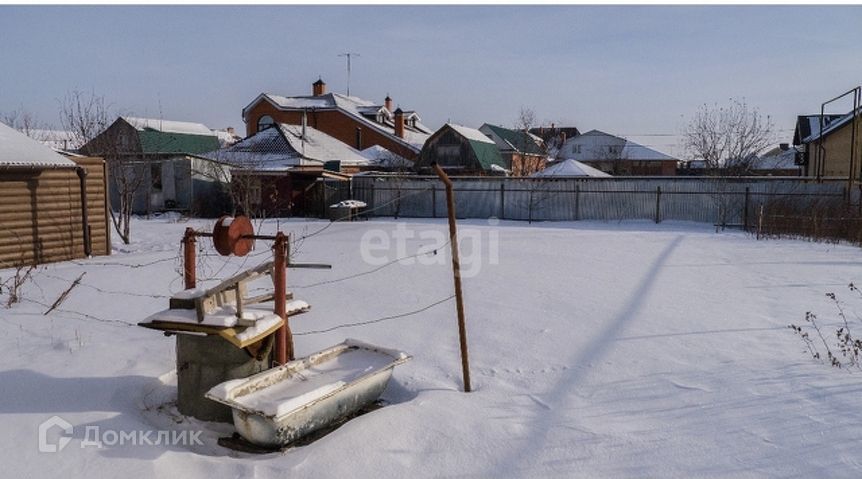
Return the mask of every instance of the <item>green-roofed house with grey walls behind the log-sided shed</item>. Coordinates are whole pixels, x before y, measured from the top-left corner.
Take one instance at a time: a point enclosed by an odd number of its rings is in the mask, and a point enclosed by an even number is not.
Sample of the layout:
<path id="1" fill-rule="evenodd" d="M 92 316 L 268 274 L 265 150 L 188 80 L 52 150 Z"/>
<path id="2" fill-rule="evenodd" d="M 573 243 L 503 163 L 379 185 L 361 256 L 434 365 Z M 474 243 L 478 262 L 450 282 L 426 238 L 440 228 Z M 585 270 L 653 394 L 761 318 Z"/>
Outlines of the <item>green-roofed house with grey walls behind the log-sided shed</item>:
<path id="1" fill-rule="evenodd" d="M 219 146 L 219 135 L 201 123 L 121 116 L 80 151 L 105 158 L 115 206 L 125 191 L 135 214 L 217 216 L 229 206 L 229 169 L 200 154 Z"/>

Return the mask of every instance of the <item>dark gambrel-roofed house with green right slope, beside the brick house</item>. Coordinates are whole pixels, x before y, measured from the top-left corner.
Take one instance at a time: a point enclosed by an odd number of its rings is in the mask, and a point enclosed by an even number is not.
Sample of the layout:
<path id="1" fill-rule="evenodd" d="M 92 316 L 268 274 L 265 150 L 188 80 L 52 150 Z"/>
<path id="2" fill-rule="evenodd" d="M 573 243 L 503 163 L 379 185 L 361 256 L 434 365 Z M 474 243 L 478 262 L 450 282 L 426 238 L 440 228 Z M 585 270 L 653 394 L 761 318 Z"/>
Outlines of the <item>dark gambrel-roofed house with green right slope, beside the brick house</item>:
<path id="1" fill-rule="evenodd" d="M 416 161 L 420 173 L 432 173 L 437 163 L 450 175 L 503 175 L 509 165 L 494 140 L 481 131 L 447 123 L 434 132 Z"/>

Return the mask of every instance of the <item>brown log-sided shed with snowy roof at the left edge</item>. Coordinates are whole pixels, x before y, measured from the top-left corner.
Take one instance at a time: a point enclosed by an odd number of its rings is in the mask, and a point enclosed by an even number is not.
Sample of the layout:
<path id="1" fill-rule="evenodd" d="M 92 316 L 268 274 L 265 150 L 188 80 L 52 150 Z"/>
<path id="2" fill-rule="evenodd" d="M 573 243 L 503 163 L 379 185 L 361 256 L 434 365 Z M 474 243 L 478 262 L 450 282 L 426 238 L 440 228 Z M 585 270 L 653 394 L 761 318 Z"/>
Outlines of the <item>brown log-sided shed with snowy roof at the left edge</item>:
<path id="1" fill-rule="evenodd" d="M 111 254 L 106 191 L 101 158 L 64 157 L 0 123 L 0 268 Z"/>

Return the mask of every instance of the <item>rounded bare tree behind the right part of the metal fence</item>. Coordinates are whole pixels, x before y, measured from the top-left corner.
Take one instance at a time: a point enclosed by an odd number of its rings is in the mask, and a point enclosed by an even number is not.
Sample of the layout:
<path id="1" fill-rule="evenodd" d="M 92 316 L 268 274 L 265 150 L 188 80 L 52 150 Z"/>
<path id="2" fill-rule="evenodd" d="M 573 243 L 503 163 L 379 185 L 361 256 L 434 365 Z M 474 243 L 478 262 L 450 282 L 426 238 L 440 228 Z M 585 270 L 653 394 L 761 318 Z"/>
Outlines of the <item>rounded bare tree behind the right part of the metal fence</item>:
<path id="1" fill-rule="evenodd" d="M 702 105 L 683 131 L 683 147 L 690 159 L 702 160 L 712 172 L 742 175 L 773 142 L 769 116 L 731 99 L 727 106 Z"/>

